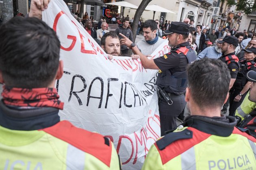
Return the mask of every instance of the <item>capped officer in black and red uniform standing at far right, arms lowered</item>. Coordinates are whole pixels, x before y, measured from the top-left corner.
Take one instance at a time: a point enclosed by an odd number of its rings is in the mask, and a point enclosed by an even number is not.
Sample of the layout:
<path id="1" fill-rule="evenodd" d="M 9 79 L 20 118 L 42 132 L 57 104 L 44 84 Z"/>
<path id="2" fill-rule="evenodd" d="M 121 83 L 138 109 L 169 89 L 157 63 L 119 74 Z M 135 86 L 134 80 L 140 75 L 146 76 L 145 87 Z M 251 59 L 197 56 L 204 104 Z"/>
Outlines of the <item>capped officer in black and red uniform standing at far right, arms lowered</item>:
<path id="1" fill-rule="evenodd" d="M 229 98 L 229 115 L 233 116 L 236 108 L 241 105 L 243 99 L 245 98 L 251 81 L 247 81 L 246 73 L 249 70 L 256 71 L 256 64 L 254 62 L 254 58 L 256 57 L 256 48 L 251 47 L 248 49 L 243 49 L 245 51 L 243 61 L 240 61 L 240 69 L 238 71 L 236 81 L 234 82 L 233 87 L 230 89 L 230 98 Z"/>

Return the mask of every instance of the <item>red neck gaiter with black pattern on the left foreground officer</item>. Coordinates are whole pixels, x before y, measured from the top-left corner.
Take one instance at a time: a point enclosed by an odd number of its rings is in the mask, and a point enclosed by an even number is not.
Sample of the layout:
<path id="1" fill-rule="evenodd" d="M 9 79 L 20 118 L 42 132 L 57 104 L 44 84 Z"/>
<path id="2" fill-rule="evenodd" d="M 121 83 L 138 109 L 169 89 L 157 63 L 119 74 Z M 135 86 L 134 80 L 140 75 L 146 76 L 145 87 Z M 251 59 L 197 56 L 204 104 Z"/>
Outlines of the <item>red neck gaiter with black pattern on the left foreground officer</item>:
<path id="1" fill-rule="evenodd" d="M 59 99 L 55 88 L 23 89 L 3 86 L 3 102 L 11 106 L 55 107 L 63 110 L 64 103 Z"/>

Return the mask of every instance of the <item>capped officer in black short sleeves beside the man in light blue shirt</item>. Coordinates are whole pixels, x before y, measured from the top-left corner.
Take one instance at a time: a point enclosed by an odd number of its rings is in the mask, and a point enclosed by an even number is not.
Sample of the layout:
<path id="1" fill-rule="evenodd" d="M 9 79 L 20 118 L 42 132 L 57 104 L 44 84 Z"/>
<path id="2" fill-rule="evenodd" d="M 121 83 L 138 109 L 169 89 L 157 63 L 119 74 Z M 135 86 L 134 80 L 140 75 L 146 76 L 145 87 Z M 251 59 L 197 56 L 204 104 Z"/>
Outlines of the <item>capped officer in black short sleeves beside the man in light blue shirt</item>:
<path id="1" fill-rule="evenodd" d="M 234 84 L 236 80 L 237 72 L 239 70 L 239 59 L 235 55 L 235 49 L 238 46 L 238 39 L 235 36 L 225 36 L 223 40 L 218 40 L 218 43 L 221 43 L 221 52 L 222 55 L 219 57 L 219 60 L 225 62 L 228 65 L 230 71 L 231 80 L 229 84 L 229 89 Z M 222 114 L 227 113 L 229 100 L 223 105 L 221 110 Z"/>

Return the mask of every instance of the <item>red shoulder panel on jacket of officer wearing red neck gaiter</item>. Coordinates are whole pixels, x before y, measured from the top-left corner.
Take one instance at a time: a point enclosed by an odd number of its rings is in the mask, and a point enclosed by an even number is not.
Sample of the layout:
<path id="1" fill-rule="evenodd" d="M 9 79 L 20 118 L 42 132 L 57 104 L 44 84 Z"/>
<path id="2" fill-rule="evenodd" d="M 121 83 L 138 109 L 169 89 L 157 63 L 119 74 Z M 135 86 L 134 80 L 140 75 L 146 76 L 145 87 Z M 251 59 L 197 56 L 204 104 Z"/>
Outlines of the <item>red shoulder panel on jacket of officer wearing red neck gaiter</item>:
<path id="1" fill-rule="evenodd" d="M 60 121 L 54 126 L 41 130 L 72 144 L 74 147 L 95 156 L 108 167 L 110 166 L 112 145 L 105 144 L 101 134 L 75 127 L 69 121 Z"/>

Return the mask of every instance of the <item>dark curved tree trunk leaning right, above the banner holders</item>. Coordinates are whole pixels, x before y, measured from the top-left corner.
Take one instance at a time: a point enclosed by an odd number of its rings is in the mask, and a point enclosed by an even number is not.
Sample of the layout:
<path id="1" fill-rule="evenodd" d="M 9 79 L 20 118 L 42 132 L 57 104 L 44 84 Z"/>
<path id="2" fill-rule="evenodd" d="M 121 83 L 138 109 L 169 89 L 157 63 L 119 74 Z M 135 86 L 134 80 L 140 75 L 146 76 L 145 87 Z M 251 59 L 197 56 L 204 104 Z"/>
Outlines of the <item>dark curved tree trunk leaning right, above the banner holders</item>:
<path id="1" fill-rule="evenodd" d="M 133 35 L 133 40 L 135 42 L 135 38 L 137 36 L 137 29 L 138 29 L 138 25 L 139 25 L 139 19 L 143 13 L 143 11 L 145 10 L 146 6 L 148 6 L 148 4 L 151 2 L 152 0 L 142 0 L 141 4 L 139 5 L 134 19 L 133 19 L 133 25 L 132 25 L 132 35 Z"/>

